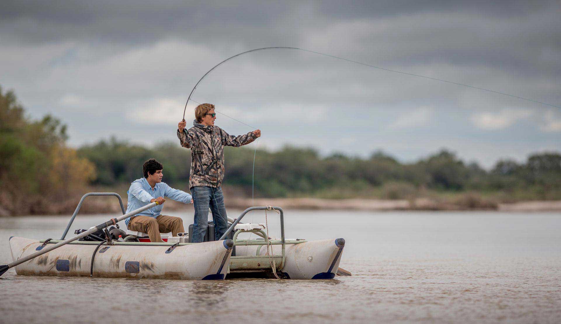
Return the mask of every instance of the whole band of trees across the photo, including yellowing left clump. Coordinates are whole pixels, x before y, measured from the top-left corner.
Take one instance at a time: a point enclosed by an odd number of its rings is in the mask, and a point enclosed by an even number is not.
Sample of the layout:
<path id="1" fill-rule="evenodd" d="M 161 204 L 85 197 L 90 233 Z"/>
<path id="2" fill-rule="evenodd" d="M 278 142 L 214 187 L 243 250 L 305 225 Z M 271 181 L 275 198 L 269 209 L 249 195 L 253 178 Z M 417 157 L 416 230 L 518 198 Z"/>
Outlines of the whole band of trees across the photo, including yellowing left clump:
<path id="1" fill-rule="evenodd" d="M 178 141 L 146 147 L 101 140 L 75 150 L 66 146 L 66 126 L 47 115 L 25 116 L 12 91 L 0 88 L 0 214 L 50 210 L 53 201 L 81 196 L 90 186 L 122 188 L 142 177 L 142 163 L 156 158 L 164 180 L 188 187 L 190 151 Z M 448 150 L 414 163 L 401 163 L 384 152 L 369 158 L 343 154 L 321 156 L 309 148 L 286 146 L 278 151 L 226 147 L 224 186 L 256 197 L 414 198 L 427 193 L 477 192 L 502 201 L 561 199 L 561 155 L 542 152 L 525 163 L 500 160 L 490 170 L 465 163 Z M 70 206 L 69 205 L 69 206 Z M 61 207 L 61 212 L 64 208 Z"/>

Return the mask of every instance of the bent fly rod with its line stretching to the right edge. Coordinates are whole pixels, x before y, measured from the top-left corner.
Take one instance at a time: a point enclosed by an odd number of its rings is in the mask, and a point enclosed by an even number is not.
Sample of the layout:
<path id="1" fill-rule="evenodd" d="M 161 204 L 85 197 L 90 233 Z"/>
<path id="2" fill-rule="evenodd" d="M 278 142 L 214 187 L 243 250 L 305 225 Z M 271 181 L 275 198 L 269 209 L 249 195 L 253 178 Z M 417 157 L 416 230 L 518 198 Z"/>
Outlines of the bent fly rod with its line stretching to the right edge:
<path id="1" fill-rule="evenodd" d="M 511 95 L 511 94 L 507 94 L 504 92 L 500 92 L 500 91 L 494 91 L 494 90 L 489 90 L 489 89 L 485 89 L 482 87 L 476 87 L 476 86 L 471 86 L 471 85 L 466 85 L 466 84 L 461 84 L 459 82 L 453 82 L 453 81 L 448 81 L 448 80 L 443 80 L 440 78 L 434 78 L 434 77 L 429 77 L 429 76 L 424 76 L 424 75 L 419 75 L 419 74 L 415 74 L 415 73 L 408 73 L 408 72 L 403 72 L 403 71 L 397 71 L 397 70 L 391 70 L 389 68 L 383 68 L 383 67 L 379 67 L 379 66 L 374 66 L 371 64 L 366 64 L 366 63 L 362 63 L 362 62 L 357 62 L 357 61 L 352 61 L 351 59 L 347 59 L 347 58 L 342 58 L 342 57 L 338 57 L 335 55 L 330 55 L 330 54 L 325 54 L 325 53 L 320 53 L 320 52 L 314 52 L 313 50 L 308 50 L 308 49 L 303 49 L 303 48 L 297 48 L 297 47 L 284 47 L 284 46 L 277 46 L 277 47 L 263 47 L 263 48 L 256 48 L 256 49 L 251 49 L 251 50 L 246 50 L 245 52 L 242 53 L 238 53 L 236 55 L 233 55 L 227 59 L 225 59 L 224 61 L 216 64 L 213 68 L 211 68 L 208 72 L 206 72 L 203 77 L 201 77 L 199 79 L 199 81 L 197 81 L 197 83 L 195 84 L 195 86 L 193 87 L 193 89 L 191 90 L 191 93 L 189 94 L 188 98 L 187 98 L 187 102 L 185 103 L 185 108 L 183 109 L 183 122 L 185 122 L 185 112 L 187 110 L 187 104 L 189 103 L 189 100 L 191 99 L 191 95 L 193 94 L 193 92 L 195 92 L 195 89 L 197 89 L 197 86 L 201 83 L 201 81 L 203 81 L 203 79 L 209 75 L 209 73 L 211 71 L 213 71 L 215 68 L 217 68 L 218 66 L 222 65 L 223 63 L 233 59 L 234 57 L 238 57 L 240 55 L 243 54 L 247 54 L 247 53 L 251 53 L 251 52 L 256 52 L 257 50 L 265 50 L 265 49 L 296 49 L 296 50 L 302 50 L 304 52 L 309 52 L 309 53 L 314 53 L 314 54 L 319 54 L 319 55 L 324 55 L 324 56 L 328 56 L 328 57 L 332 57 L 332 58 L 337 58 L 337 59 L 342 59 L 343 61 L 347 61 L 347 62 L 351 62 L 351 63 L 356 63 L 356 64 L 361 64 L 367 67 L 372 67 L 372 68 L 377 68 L 379 70 L 384 70 L 384 71 L 389 71 L 389 72 L 395 72 L 395 73 L 401 73 L 404 75 L 410 75 L 410 76 L 416 76 L 416 77 L 423 77 L 423 78 L 427 78 L 430 80 L 435 80 L 435 81 L 441 81 L 441 82 L 447 82 L 449 84 L 455 84 L 455 85 L 459 85 L 459 86 L 465 86 L 465 87 L 470 87 L 472 89 L 478 89 L 478 90 L 484 90 L 484 91 L 489 91 L 489 92 L 493 92 L 495 94 L 500 94 L 500 95 L 505 95 L 505 96 L 509 96 L 512 98 L 517 98 L 517 99 L 521 99 L 521 100 L 526 100 L 526 101 L 531 101 L 532 103 L 538 103 L 538 104 L 542 104 L 542 105 L 547 105 L 550 107 L 555 107 L 555 108 L 561 108 L 561 106 L 557 106 L 557 105 L 552 105 L 552 104 L 548 104 L 548 103 L 544 103 L 541 101 L 537 101 L 537 100 L 533 100 L 533 99 L 528 99 L 528 98 L 523 98 L 520 96 L 515 96 L 515 95 Z"/>

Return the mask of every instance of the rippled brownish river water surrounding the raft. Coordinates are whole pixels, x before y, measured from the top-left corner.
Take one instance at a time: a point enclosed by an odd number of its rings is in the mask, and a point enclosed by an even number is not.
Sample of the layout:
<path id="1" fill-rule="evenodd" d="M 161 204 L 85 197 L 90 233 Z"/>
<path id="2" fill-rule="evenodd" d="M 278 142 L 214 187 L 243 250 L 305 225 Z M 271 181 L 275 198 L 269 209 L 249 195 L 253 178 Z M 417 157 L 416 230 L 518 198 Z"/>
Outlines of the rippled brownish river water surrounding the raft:
<path id="1" fill-rule="evenodd" d="M 79 215 L 70 234 L 112 216 Z M 12 261 L 10 236 L 58 239 L 69 218 L 0 218 L 0 264 Z M 264 213 L 243 221 L 264 223 Z M 278 237 L 278 216 L 268 222 Z M 286 210 L 285 228 L 288 238 L 344 238 L 341 267 L 352 276 L 188 281 L 10 269 L 0 277 L 0 322 L 561 322 L 559 213 Z"/>

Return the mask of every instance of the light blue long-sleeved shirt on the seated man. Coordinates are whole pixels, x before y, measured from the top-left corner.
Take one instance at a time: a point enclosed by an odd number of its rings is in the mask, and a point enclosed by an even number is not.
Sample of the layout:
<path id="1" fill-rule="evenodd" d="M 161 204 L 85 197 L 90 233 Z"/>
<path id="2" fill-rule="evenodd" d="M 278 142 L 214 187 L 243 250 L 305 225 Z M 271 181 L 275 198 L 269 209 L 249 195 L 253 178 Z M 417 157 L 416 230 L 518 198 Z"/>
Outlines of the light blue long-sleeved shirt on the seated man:
<path id="1" fill-rule="evenodd" d="M 142 206 L 146 206 L 150 203 L 150 200 L 158 197 L 168 197 L 175 201 L 180 201 L 183 203 L 191 203 L 192 196 L 186 193 L 185 191 L 181 191 L 179 189 L 173 189 L 169 187 L 167 183 L 160 182 L 154 185 L 154 189 L 150 187 L 148 180 L 146 178 L 140 178 L 134 180 L 131 183 L 131 187 L 128 188 L 128 205 L 127 205 L 127 212 L 131 212 L 133 210 L 137 210 Z M 149 216 L 149 217 L 158 217 L 160 216 L 160 212 L 162 212 L 163 205 L 156 205 L 148 210 L 142 211 L 135 216 Z M 128 222 L 131 220 L 131 217 L 128 217 L 125 220 L 125 224 L 128 226 Z"/>

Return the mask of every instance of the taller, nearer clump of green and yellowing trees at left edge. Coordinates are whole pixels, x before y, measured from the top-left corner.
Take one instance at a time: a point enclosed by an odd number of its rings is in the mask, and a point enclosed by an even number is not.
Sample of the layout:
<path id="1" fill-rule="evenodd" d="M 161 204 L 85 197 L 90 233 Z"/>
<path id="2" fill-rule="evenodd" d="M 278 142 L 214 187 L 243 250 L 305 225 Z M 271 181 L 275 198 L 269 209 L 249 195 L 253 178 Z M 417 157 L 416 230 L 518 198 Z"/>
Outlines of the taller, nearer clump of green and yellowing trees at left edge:
<path id="1" fill-rule="evenodd" d="M 95 181 L 94 164 L 77 156 L 66 140 L 61 121 L 50 115 L 31 120 L 13 91 L 0 88 L 0 214 L 48 210 L 50 201 Z"/>

